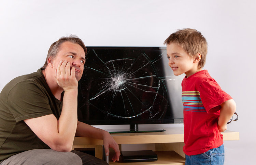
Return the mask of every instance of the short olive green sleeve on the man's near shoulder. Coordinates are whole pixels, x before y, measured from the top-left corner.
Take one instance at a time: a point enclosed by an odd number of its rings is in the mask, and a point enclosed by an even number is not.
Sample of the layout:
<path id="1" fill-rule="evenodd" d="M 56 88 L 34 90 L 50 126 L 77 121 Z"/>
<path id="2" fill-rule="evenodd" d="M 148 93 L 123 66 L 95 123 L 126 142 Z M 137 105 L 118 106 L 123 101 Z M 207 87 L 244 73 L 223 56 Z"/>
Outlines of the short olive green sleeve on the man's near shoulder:
<path id="1" fill-rule="evenodd" d="M 19 82 L 8 94 L 6 103 L 16 122 L 53 114 L 45 89 L 34 82 Z"/>

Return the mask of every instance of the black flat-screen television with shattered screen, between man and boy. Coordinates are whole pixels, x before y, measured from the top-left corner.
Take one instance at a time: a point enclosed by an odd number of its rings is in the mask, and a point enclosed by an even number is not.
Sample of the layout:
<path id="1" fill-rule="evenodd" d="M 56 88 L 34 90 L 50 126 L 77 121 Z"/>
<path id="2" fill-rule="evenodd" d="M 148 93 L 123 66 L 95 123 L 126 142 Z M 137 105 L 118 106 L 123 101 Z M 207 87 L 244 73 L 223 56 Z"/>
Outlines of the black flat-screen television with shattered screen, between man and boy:
<path id="1" fill-rule="evenodd" d="M 183 123 L 181 81 L 166 47 L 87 47 L 78 119 L 89 125 Z M 150 130 L 149 130 L 150 131 Z"/>

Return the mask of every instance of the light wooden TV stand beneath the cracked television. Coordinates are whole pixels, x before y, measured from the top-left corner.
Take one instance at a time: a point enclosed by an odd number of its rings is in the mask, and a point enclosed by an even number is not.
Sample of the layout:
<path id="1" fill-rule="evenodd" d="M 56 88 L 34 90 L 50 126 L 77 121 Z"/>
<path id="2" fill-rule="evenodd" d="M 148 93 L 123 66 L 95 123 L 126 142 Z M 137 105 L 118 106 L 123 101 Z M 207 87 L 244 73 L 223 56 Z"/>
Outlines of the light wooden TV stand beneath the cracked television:
<path id="1" fill-rule="evenodd" d="M 224 131 L 224 141 L 239 140 L 239 132 Z M 182 150 L 183 127 L 166 128 L 164 132 L 144 132 L 144 133 L 114 133 L 111 134 L 122 151 L 122 144 L 155 144 L 155 152 L 158 156 L 157 161 L 153 162 L 132 162 L 118 163 L 119 165 L 185 165 L 185 154 Z M 103 140 L 88 137 L 75 137 L 73 149 L 94 148 L 95 156 L 102 159 Z M 139 150 L 139 149 L 138 149 Z M 111 150 L 113 153 L 113 150 Z M 112 155 L 110 153 L 110 160 Z M 114 164 L 112 161 L 110 164 Z"/>

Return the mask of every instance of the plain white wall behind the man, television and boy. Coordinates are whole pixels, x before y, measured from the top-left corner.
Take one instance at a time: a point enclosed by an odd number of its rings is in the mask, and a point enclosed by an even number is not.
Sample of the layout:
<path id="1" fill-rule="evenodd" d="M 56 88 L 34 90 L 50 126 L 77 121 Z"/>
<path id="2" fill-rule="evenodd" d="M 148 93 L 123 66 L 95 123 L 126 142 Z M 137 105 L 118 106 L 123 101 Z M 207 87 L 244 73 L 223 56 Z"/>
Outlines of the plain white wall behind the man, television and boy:
<path id="1" fill-rule="evenodd" d="M 195 28 L 209 43 L 204 68 L 237 103 L 239 120 L 228 129 L 239 131 L 240 141 L 224 142 L 225 165 L 252 164 L 255 6 L 254 0 L 0 0 L 0 90 L 40 68 L 61 36 L 74 33 L 86 46 L 163 46 L 177 29 Z"/>

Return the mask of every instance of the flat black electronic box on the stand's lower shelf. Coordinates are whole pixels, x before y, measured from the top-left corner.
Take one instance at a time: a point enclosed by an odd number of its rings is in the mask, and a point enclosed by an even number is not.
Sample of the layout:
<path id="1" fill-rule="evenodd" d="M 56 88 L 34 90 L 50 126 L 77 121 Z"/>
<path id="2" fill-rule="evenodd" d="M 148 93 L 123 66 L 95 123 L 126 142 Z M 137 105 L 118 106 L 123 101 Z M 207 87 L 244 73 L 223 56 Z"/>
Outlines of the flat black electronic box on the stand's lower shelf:
<path id="1" fill-rule="evenodd" d="M 122 162 L 150 162 L 157 161 L 157 154 L 152 150 L 122 151 Z"/>

